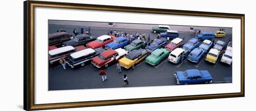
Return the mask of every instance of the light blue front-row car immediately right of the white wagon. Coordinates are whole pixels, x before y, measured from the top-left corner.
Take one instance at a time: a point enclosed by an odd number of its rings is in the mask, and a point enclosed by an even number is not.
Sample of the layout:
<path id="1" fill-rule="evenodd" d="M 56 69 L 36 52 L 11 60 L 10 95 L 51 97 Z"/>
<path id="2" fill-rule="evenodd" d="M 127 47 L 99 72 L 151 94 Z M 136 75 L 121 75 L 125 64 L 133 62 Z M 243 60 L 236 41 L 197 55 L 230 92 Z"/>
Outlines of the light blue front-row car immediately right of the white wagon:
<path id="1" fill-rule="evenodd" d="M 205 51 L 202 48 L 197 47 L 189 53 L 187 59 L 191 62 L 197 63 L 202 58 L 204 52 Z"/>

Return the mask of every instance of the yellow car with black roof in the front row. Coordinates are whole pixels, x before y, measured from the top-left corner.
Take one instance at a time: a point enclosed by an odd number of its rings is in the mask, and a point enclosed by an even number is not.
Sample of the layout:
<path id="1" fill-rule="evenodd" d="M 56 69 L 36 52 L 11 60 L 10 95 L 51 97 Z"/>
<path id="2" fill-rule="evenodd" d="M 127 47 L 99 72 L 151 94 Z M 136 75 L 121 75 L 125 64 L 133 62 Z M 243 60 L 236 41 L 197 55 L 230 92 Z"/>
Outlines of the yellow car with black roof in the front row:
<path id="1" fill-rule="evenodd" d="M 122 67 L 129 69 L 130 67 L 134 67 L 141 60 L 145 59 L 148 54 L 149 52 L 145 49 L 133 50 L 124 58 L 120 59 L 119 63 Z"/>

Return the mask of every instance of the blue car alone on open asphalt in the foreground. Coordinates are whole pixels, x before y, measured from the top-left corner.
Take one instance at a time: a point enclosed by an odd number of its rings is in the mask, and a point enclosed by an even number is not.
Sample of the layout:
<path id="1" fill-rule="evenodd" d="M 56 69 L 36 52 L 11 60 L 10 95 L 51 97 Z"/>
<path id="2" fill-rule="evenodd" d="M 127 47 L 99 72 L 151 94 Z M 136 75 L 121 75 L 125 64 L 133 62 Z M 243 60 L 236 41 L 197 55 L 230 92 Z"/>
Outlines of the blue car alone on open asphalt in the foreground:
<path id="1" fill-rule="evenodd" d="M 199 71 L 197 69 L 189 69 L 184 72 L 175 72 L 178 85 L 211 83 L 212 77 L 208 71 Z"/>

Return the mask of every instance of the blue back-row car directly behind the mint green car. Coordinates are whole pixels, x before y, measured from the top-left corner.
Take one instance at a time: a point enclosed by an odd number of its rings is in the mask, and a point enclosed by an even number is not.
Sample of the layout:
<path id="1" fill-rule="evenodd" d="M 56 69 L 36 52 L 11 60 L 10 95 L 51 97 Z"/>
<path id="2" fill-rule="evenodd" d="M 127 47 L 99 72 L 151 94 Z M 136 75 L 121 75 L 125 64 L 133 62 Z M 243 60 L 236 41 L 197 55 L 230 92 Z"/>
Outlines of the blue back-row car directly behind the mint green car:
<path id="1" fill-rule="evenodd" d="M 146 47 L 146 50 L 148 52 L 153 52 L 155 49 L 162 48 L 168 44 L 167 39 L 160 38 L 160 39 L 154 39 L 154 41 L 151 44 L 148 44 Z"/>

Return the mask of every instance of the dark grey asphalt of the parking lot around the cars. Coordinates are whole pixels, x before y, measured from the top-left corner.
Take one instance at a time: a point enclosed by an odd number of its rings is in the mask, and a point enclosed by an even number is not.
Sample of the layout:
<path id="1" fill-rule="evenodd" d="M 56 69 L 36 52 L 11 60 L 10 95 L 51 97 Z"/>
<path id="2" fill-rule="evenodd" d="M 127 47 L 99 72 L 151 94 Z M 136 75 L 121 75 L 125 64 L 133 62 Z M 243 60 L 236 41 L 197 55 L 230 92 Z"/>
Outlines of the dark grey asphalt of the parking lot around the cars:
<path id="1" fill-rule="evenodd" d="M 49 25 L 49 33 L 54 33 L 57 30 L 63 29 L 67 33 L 73 34 L 73 29 L 79 30 L 79 26 L 65 26 L 65 25 Z M 170 26 L 172 29 L 172 26 Z M 112 27 L 112 30 L 122 31 L 126 33 L 146 33 L 150 34 L 151 39 L 155 39 L 158 33 L 152 33 L 150 29 L 133 30 L 133 29 L 118 29 Z M 230 29 L 231 30 L 231 29 Z M 90 33 L 93 36 L 101 36 L 107 34 L 109 28 L 90 27 Z M 179 30 L 178 30 L 179 31 Z M 209 30 L 215 31 L 215 30 Z M 73 34 L 74 35 L 74 34 Z M 192 32 L 179 32 L 179 37 L 185 37 L 185 43 L 193 38 Z M 222 40 L 226 42 L 224 49 L 226 49 L 232 38 L 232 34 L 227 34 L 225 38 L 215 38 L 215 41 Z M 202 43 L 202 41 L 201 41 Z M 200 44 L 201 44 L 200 43 Z M 208 63 L 205 60 L 207 53 L 203 55 L 198 63 L 192 63 L 188 59 L 178 64 L 173 64 L 165 59 L 155 66 L 149 65 L 145 59 L 135 65 L 134 71 L 131 69 L 122 68 L 122 73 L 119 74 L 116 70 L 116 63 L 105 68 L 107 73 L 107 81 L 102 82 L 101 76 L 98 74 L 99 70 L 90 62 L 83 67 L 70 68 L 64 70 L 61 65 L 55 66 L 49 70 L 49 91 L 53 90 L 73 90 L 73 89 L 95 89 L 95 88 L 118 88 L 118 87 L 141 87 L 141 86 L 162 86 L 162 85 L 176 85 L 174 76 L 175 71 L 185 71 L 188 69 L 208 70 L 213 77 L 211 84 L 223 83 L 223 78 L 232 77 L 232 66 L 220 62 L 221 57 L 218 58 L 216 64 Z M 123 74 L 128 76 L 129 84 L 123 86 Z"/>

